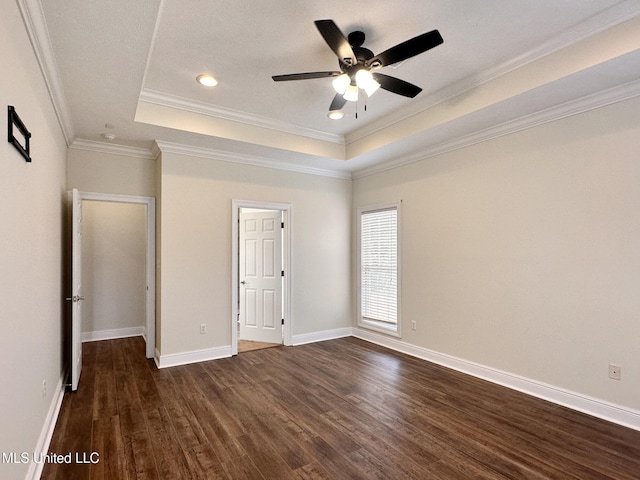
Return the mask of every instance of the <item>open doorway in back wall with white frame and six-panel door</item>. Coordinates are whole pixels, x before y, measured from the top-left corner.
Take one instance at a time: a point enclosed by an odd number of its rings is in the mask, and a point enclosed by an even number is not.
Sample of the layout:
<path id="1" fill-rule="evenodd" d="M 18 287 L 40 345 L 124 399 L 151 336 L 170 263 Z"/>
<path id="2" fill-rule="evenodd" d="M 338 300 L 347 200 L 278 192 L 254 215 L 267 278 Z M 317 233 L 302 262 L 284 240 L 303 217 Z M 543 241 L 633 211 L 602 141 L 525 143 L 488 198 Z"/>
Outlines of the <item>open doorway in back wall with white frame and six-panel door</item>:
<path id="1" fill-rule="evenodd" d="M 232 354 L 291 345 L 291 206 L 232 202 Z"/>

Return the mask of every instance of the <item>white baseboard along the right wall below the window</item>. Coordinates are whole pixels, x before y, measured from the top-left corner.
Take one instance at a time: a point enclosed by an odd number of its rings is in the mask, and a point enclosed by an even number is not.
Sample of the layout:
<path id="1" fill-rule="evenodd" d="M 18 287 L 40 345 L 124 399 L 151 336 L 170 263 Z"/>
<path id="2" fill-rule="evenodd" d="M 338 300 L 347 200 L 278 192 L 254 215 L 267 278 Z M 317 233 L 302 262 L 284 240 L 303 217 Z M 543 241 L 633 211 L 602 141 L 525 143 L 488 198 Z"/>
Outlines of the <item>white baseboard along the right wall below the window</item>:
<path id="1" fill-rule="evenodd" d="M 402 340 L 380 335 L 362 328 L 354 328 L 353 336 L 474 377 L 482 378 L 483 380 L 513 390 L 518 390 L 519 392 L 534 397 L 542 398 L 543 400 L 586 413 L 593 417 L 640 431 L 640 411 L 631 408 L 622 407 L 581 393 L 554 387 L 553 385 L 537 382 L 502 370 L 438 353 L 427 348 L 417 347 Z"/>

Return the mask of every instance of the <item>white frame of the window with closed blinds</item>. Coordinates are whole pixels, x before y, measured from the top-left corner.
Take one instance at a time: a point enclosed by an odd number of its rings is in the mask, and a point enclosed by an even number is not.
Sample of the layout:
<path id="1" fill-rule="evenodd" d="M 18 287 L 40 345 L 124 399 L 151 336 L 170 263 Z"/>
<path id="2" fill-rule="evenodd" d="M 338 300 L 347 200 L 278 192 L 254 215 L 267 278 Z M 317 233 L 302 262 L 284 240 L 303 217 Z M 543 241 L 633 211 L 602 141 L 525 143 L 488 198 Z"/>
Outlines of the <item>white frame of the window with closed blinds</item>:
<path id="1" fill-rule="evenodd" d="M 362 316 L 362 216 L 367 213 L 380 212 L 384 210 L 395 210 L 396 211 L 396 242 L 397 242 L 397 252 L 396 252 L 396 323 L 390 324 L 383 321 L 377 321 L 372 319 L 365 319 Z M 402 237 L 401 237 L 401 225 L 402 225 L 402 210 L 401 210 L 401 202 L 393 202 L 393 203 L 385 203 L 378 205 L 369 205 L 358 207 L 357 211 L 357 245 L 356 245 L 356 256 L 357 256 L 357 325 L 358 327 L 366 328 L 369 330 L 374 330 L 379 333 L 384 333 L 386 335 L 391 335 L 395 337 L 402 336 L 402 309 L 401 309 L 401 265 L 402 265 Z"/>

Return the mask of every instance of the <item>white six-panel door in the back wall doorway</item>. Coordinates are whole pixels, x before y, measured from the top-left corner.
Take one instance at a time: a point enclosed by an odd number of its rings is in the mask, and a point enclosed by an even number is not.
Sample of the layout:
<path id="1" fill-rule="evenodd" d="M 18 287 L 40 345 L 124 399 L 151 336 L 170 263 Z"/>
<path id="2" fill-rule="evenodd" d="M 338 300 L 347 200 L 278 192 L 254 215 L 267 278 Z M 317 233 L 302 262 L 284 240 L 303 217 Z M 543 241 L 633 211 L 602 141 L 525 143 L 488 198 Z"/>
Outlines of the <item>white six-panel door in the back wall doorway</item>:
<path id="1" fill-rule="evenodd" d="M 242 340 L 282 343 L 282 212 L 240 213 Z"/>

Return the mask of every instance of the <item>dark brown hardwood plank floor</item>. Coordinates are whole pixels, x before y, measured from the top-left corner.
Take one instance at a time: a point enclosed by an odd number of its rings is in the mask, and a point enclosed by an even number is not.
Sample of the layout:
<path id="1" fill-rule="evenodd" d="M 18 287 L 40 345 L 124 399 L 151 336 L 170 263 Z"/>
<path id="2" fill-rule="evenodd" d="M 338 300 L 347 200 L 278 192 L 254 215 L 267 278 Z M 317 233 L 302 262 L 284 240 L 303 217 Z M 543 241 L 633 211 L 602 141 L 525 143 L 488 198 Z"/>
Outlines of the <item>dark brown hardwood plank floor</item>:
<path id="1" fill-rule="evenodd" d="M 640 478 L 640 432 L 355 338 L 158 370 L 137 337 L 83 361 L 50 451 L 99 461 L 46 480 Z"/>

